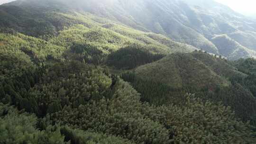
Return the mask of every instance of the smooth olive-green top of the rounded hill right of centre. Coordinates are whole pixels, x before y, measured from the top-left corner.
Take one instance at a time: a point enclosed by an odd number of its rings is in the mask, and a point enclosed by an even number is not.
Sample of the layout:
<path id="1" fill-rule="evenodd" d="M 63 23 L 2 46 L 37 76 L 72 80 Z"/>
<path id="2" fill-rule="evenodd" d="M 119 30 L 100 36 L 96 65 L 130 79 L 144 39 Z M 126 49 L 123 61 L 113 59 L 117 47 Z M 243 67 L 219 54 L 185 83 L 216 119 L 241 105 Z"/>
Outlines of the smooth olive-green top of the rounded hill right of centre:
<path id="1" fill-rule="evenodd" d="M 135 73 L 143 78 L 161 81 L 174 88 L 229 86 L 229 82 L 213 72 L 192 54 L 171 54 L 160 61 L 138 67 Z"/>

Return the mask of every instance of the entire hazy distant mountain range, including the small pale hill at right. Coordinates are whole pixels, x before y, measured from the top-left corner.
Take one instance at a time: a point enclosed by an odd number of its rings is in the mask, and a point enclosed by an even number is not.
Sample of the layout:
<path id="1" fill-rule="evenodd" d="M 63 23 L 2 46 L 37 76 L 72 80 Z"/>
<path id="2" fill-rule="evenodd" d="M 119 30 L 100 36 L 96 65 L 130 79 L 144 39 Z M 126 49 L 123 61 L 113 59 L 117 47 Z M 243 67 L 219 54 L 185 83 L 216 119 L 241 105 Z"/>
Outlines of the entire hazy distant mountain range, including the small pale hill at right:
<path id="1" fill-rule="evenodd" d="M 62 6 L 58 5 L 59 8 L 57 8 L 62 12 L 64 9 L 67 10 L 66 8 L 73 12 L 89 12 L 141 31 L 165 35 L 176 42 L 192 45 L 209 53 L 225 56 L 230 60 L 256 57 L 256 20 L 238 14 L 214 0 L 56 1 L 59 1 L 59 4 L 62 3 Z M 14 20 L 5 19 L 7 15 L 13 15 L 8 11 L 13 6 L 33 9 L 32 5 L 37 5 L 39 8 L 48 5 L 47 8 L 53 8 L 57 6 L 55 2 L 18 0 L 5 4 L 0 8 L 0 25 L 3 26 L 3 21 L 11 23 Z M 5 27 L 15 29 L 11 25 L 5 25 Z M 227 35 L 229 44 L 219 45 L 218 41 L 225 41 L 227 38 L 227 36 L 221 36 L 216 40 L 216 36 L 219 35 Z"/>

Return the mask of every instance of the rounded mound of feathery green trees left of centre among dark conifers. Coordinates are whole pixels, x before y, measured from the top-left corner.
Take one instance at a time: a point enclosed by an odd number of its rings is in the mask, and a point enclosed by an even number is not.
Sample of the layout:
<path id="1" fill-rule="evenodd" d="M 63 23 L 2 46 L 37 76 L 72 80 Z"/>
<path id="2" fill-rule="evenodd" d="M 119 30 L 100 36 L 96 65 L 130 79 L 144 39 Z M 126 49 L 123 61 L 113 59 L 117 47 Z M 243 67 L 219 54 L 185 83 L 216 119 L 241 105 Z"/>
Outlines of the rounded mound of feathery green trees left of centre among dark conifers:
<path id="1" fill-rule="evenodd" d="M 101 70 L 93 70 L 90 65 L 80 62 L 56 64 L 48 71 L 40 85 L 28 94 L 36 99 L 38 116 L 55 113 L 65 105 L 77 108 L 91 99 L 102 99 L 112 83 Z"/>

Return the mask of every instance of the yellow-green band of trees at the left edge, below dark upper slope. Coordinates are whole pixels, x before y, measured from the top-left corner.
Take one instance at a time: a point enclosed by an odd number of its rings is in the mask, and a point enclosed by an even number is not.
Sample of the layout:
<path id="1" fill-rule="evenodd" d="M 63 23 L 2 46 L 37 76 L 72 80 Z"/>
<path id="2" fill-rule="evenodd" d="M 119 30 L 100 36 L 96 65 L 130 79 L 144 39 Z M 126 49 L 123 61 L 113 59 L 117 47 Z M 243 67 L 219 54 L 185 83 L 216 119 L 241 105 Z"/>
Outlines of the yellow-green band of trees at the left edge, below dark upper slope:
<path id="1" fill-rule="evenodd" d="M 0 34 L 1 53 L 27 54 L 32 61 L 61 60 L 65 47 L 23 34 Z"/>

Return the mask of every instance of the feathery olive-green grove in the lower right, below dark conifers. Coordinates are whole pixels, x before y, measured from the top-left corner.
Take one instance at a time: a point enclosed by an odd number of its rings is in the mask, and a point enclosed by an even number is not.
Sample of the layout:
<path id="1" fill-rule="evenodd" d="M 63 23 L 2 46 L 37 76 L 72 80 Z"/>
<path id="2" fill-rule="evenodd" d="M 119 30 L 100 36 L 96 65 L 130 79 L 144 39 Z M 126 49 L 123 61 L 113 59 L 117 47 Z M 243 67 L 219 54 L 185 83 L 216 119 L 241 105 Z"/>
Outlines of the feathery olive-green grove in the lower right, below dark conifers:
<path id="1" fill-rule="evenodd" d="M 204 102 L 191 94 L 183 96 L 182 103 L 150 110 L 144 107 L 143 113 L 169 127 L 174 144 L 254 143 L 250 126 L 238 121 L 229 107 Z"/>

